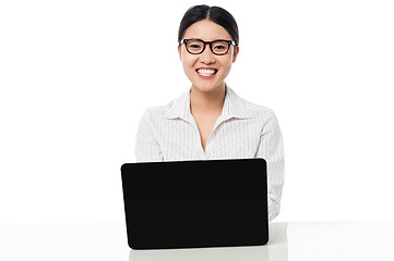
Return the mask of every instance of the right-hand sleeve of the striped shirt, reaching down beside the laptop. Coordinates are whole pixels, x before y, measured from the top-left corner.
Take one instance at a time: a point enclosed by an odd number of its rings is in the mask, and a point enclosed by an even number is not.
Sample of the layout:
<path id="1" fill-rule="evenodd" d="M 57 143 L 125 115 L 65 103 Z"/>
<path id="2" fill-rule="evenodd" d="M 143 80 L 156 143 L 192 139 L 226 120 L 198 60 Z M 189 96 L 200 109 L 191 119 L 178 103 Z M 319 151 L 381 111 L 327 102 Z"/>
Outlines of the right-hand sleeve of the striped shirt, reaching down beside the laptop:
<path id="1" fill-rule="evenodd" d="M 267 165 L 268 221 L 271 222 L 279 214 L 285 181 L 283 137 L 276 115 L 272 111 L 260 136 L 256 158 L 263 158 Z"/>

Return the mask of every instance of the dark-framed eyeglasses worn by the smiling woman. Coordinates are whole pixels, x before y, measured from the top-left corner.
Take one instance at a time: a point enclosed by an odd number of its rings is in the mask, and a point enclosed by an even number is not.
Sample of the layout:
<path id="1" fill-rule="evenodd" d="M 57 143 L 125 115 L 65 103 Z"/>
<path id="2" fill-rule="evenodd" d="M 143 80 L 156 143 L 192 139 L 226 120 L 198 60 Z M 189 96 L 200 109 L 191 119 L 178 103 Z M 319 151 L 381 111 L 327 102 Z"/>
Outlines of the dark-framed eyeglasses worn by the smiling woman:
<path id="1" fill-rule="evenodd" d="M 211 51 L 216 55 L 224 55 L 230 49 L 230 46 L 237 46 L 234 40 L 214 40 L 203 41 L 200 39 L 181 39 L 179 45 L 186 45 L 186 49 L 191 54 L 200 54 L 205 50 L 206 44 L 210 45 Z"/>

